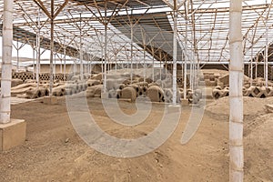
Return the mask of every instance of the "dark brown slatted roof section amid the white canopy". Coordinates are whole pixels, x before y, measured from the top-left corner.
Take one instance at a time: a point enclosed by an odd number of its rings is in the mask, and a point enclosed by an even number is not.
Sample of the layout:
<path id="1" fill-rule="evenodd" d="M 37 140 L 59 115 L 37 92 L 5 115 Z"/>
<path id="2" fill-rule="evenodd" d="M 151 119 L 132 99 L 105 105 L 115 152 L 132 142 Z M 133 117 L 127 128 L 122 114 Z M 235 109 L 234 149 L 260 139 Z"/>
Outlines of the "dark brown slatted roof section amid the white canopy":
<path id="1" fill-rule="evenodd" d="M 154 55 L 157 61 L 171 61 L 173 59 L 173 29 L 166 13 L 148 15 L 119 15 L 112 20 L 120 32 L 131 38 L 133 27 L 133 41 Z M 182 57 L 182 49 L 178 45 L 177 57 Z"/>

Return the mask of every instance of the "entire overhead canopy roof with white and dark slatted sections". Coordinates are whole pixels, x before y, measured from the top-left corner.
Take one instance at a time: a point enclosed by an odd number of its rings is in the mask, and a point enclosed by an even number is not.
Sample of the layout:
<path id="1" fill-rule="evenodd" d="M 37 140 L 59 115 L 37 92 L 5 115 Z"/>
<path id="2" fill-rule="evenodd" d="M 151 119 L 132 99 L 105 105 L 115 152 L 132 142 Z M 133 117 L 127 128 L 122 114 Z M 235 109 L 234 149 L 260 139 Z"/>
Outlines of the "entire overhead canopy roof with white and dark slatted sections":
<path id="1" fill-rule="evenodd" d="M 49 9 L 50 1 L 44 0 L 43 2 Z M 169 7 L 172 4 L 171 0 L 112 0 L 106 2 L 105 6 L 105 1 L 101 0 L 70 0 L 55 20 L 56 51 L 60 50 L 59 53 L 61 53 L 62 48 L 60 47 L 66 47 L 66 54 L 73 53 L 71 54 L 73 56 L 79 50 L 80 37 L 82 37 L 83 49 L 88 54 L 89 60 L 99 59 L 104 55 L 104 27 L 107 22 L 108 61 L 129 61 L 130 58 L 133 61 L 141 61 L 144 59 L 144 51 L 147 51 L 147 61 L 152 60 L 153 56 L 159 60 L 160 54 L 165 54 L 166 60 L 172 59 L 173 40 L 171 37 L 174 23 L 173 13 Z M 178 1 L 177 41 L 180 45 L 178 47 L 190 59 L 199 62 L 227 62 L 229 60 L 229 1 L 192 0 L 187 1 L 188 5 L 183 2 L 185 1 Z M 56 10 L 63 3 L 64 1 L 55 0 Z M 38 17 L 38 6 L 35 0 L 15 0 L 14 6 L 15 40 L 18 39 L 21 42 L 32 40 L 34 43 Z M 258 54 L 263 54 L 267 37 L 268 44 L 273 41 L 271 6 L 272 1 L 269 0 L 245 0 L 243 2 L 242 33 L 245 61 L 255 59 Z M 107 8 L 106 19 L 105 7 Z M 3 1 L 0 2 L 0 11 L 3 12 Z M 133 23 L 139 19 L 134 30 L 132 45 L 129 33 L 130 19 L 133 20 Z M 46 40 L 42 41 L 42 46 L 46 48 L 50 38 L 50 24 L 48 17 L 42 11 L 40 20 L 40 35 L 43 40 Z M 266 27 L 268 27 L 268 34 Z M 144 39 L 149 44 L 145 44 Z M 187 51 L 185 51 L 186 47 Z M 182 50 L 178 50 L 178 60 L 182 59 Z M 133 57 L 131 57 L 132 52 Z"/>

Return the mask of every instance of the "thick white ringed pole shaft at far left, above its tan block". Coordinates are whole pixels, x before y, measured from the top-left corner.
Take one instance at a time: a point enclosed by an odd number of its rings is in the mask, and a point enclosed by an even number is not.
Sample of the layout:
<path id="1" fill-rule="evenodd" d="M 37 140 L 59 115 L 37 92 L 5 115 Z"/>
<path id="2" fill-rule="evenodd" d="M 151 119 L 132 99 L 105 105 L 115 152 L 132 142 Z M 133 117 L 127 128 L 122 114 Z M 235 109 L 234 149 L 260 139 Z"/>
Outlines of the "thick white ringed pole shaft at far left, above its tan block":
<path id="1" fill-rule="evenodd" d="M 13 4 L 14 1 L 4 0 L 0 124 L 10 122 L 10 92 L 12 79 L 13 46 Z"/>

